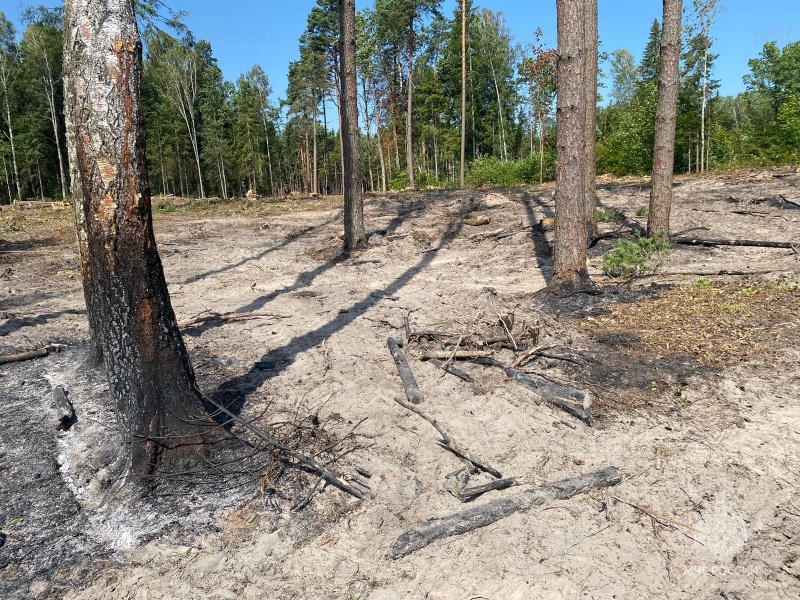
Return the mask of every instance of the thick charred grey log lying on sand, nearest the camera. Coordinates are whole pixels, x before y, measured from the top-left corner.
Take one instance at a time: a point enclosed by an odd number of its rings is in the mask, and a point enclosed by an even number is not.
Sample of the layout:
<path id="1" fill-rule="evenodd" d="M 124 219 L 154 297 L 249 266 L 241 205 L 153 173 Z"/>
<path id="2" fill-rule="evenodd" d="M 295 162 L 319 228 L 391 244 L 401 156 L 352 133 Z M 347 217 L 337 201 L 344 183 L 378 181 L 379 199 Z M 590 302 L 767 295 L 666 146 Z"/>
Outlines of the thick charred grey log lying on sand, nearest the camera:
<path id="1" fill-rule="evenodd" d="M 589 490 L 617 485 L 622 475 L 616 467 L 564 479 L 552 485 L 532 488 L 502 500 L 495 500 L 460 513 L 439 519 L 429 519 L 416 529 L 401 535 L 389 548 L 387 558 L 397 559 L 428 546 L 436 540 L 469 533 L 513 515 L 525 512 L 547 500 L 566 500 Z"/>

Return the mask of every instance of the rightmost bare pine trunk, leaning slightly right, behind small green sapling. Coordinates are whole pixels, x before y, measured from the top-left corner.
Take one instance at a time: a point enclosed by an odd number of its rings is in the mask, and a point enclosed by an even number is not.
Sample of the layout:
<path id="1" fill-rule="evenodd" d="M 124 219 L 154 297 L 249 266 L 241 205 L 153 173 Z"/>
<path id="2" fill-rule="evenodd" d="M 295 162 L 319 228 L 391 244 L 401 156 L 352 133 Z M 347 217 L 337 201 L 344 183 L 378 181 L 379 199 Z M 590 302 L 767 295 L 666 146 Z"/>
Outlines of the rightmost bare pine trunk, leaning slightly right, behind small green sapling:
<path id="1" fill-rule="evenodd" d="M 658 104 L 647 235 L 662 237 L 665 240 L 669 240 L 669 215 L 672 207 L 672 172 L 675 164 L 675 122 L 678 110 L 682 12 L 681 0 L 664 0 L 664 25 L 661 31 Z"/>

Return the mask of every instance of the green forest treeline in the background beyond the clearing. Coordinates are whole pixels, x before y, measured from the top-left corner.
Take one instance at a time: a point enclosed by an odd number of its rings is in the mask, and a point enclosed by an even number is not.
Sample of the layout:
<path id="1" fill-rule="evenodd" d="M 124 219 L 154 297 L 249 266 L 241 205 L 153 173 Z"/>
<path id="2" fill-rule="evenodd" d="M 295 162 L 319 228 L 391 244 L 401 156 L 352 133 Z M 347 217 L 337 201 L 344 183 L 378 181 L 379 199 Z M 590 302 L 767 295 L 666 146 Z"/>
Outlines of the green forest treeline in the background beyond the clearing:
<path id="1" fill-rule="evenodd" d="M 367 190 L 455 185 L 460 127 L 467 181 L 512 185 L 555 169 L 556 53 L 515 44 L 501 13 L 466 2 L 466 112 L 461 8 L 376 0 L 357 16 L 357 77 Z M 276 99 L 258 65 L 226 81 L 209 43 L 178 19 L 156 27 L 142 6 L 143 109 L 153 192 L 180 196 L 340 193 L 337 0 L 317 0 Z M 796 162 L 800 42 L 770 42 L 749 62 L 747 91 L 721 97 L 714 78 L 715 0 L 698 0 L 684 35 L 676 172 Z M 0 13 L 0 201 L 69 195 L 63 123 L 62 15 L 31 8 L 21 37 Z M 541 36 L 541 32 L 538 32 Z M 538 38 L 537 38 L 538 39 Z M 597 108 L 598 173 L 652 165 L 660 26 L 637 63 L 605 59 Z"/>

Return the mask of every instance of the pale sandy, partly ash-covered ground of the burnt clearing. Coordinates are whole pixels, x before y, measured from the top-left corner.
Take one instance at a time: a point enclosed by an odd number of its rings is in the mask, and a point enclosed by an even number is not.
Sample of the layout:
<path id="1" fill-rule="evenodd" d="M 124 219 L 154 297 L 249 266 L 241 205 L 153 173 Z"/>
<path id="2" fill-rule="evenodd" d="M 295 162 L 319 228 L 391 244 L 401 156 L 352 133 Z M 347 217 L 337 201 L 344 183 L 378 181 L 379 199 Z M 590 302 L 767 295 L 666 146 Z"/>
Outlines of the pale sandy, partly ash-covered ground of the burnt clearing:
<path id="1" fill-rule="evenodd" d="M 799 181 L 790 171 L 682 180 L 673 232 L 800 241 L 800 208 L 780 199 L 800 201 Z M 499 240 L 478 234 L 538 224 L 552 216 L 551 193 L 370 198 L 369 245 L 347 260 L 336 258 L 341 213 L 333 205 L 157 218 L 179 320 L 205 311 L 260 314 L 186 330 L 201 387 L 243 390 L 242 415 L 267 411 L 258 421 L 264 427 L 287 415 L 318 416 L 334 433 L 358 424 L 336 468 L 348 477 L 367 470 L 371 497 L 328 487 L 298 512 L 262 494 L 256 480 L 230 494 L 220 490 L 216 503 L 186 500 L 172 513 L 164 499 L 98 506 L 114 420 L 102 372 L 82 364 L 87 329 L 70 225 L 65 217 L 23 216 L 11 226 L 4 213 L 0 351 L 67 348 L 0 367 L 0 595 L 797 598 L 797 316 L 790 311 L 770 325 L 778 331 L 770 352 L 723 365 L 652 357 L 637 350 L 635 328 L 614 337 L 586 325 L 611 305 L 657 299 L 698 277 L 795 277 L 796 252 L 677 247 L 655 276 L 619 284 L 600 271 L 600 256 L 614 243 L 607 240 L 590 258 L 604 293 L 543 304 L 534 294 L 552 271 L 551 232 L 534 227 Z M 648 190 L 638 180 L 608 181 L 599 195 L 602 206 L 632 216 Z M 475 216 L 490 223 L 464 224 Z M 798 299 L 796 292 L 788 297 Z M 403 338 L 407 315 L 415 330 L 502 333 L 498 315 L 509 311 L 515 331 L 538 328 L 540 344 L 569 350 L 574 362 L 542 360 L 536 368 L 591 390 L 595 426 L 535 404 L 499 370 L 460 365 L 475 379 L 465 383 L 412 358 L 422 407 L 505 476 L 535 485 L 614 465 L 623 482 L 389 560 L 400 534 L 465 506 L 453 493 L 463 481 L 448 477 L 460 461 L 436 444 L 428 423 L 393 400 L 403 390 L 386 338 Z M 512 353 L 498 350 L 497 357 L 510 363 Z M 57 431 L 50 416 L 55 384 L 76 409 L 68 431 Z M 470 485 L 490 480 L 476 475 Z M 473 504 L 519 492 L 491 492 Z"/>

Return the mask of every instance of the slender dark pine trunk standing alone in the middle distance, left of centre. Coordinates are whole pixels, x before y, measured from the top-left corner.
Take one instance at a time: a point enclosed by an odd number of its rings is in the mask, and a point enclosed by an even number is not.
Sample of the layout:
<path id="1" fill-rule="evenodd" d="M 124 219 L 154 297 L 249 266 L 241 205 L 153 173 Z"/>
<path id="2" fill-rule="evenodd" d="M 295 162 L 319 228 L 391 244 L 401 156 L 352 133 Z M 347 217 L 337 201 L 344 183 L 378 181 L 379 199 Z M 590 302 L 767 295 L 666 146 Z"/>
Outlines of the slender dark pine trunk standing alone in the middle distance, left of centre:
<path id="1" fill-rule="evenodd" d="M 342 142 L 344 144 L 344 247 L 358 248 L 366 240 L 364 194 L 361 187 L 361 145 L 356 87 L 356 3 L 339 0 L 342 40 Z"/>

